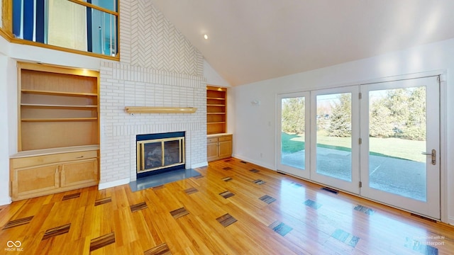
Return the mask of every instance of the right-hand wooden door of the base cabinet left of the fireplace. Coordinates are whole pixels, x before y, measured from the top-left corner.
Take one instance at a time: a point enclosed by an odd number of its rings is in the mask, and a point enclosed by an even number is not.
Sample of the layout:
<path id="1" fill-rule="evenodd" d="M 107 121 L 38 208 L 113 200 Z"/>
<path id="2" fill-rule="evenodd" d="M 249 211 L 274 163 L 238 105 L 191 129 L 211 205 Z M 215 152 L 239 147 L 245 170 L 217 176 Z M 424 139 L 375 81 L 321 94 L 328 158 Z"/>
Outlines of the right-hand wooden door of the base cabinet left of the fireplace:
<path id="1" fill-rule="evenodd" d="M 78 186 L 78 188 L 98 184 L 98 159 L 85 159 L 77 162 L 67 162 L 62 164 L 61 170 L 62 188 L 68 186 Z"/>

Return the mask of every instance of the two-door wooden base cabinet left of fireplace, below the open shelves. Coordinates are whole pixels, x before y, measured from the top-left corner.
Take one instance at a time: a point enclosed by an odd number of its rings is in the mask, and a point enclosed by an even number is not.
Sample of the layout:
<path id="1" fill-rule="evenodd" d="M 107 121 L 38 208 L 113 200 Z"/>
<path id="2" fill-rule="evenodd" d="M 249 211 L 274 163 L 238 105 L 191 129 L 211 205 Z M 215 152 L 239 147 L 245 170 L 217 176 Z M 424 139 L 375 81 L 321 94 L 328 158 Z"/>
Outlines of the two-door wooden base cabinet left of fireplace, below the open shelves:
<path id="1" fill-rule="evenodd" d="M 97 185 L 99 150 L 86 150 L 90 148 L 18 153 L 10 162 L 11 198 L 21 200 Z M 36 155 L 39 153 L 42 155 Z"/>

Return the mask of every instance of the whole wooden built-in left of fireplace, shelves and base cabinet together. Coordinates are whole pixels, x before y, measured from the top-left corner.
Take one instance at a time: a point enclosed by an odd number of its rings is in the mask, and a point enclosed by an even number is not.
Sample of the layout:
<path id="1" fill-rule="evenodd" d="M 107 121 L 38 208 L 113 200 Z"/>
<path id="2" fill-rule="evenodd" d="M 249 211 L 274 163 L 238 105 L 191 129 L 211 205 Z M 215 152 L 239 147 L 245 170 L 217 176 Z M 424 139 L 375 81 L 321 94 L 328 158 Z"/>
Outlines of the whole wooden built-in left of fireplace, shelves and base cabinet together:
<path id="1" fill-rule="evenodd" d="M 99 181 L 99 73 L 18 63 L 18 153 L 13 200 Z"/>

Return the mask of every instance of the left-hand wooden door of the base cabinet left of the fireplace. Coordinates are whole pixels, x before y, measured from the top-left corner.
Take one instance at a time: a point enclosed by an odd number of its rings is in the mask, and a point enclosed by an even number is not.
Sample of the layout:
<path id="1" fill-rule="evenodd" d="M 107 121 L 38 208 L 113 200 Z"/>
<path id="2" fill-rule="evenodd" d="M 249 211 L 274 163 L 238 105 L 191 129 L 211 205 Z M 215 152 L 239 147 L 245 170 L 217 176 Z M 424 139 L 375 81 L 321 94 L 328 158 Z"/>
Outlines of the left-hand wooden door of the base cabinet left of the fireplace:
<path id="1" fill-rule="evenodd" d="M 55 192 L 59 183 L 58 164 L 14 169 L 11 196 L 16 200 L 47 195 Z"/>

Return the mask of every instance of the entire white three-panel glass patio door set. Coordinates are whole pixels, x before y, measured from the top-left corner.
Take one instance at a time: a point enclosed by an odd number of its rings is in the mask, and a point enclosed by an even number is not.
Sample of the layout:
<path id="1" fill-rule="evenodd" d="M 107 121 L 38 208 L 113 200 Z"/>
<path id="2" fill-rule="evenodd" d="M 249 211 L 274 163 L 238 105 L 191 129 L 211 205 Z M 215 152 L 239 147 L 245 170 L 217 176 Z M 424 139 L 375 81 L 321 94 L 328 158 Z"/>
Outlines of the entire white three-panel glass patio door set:
<path id="1" fill-rule="evenodd" d="M 440 219 L 438 77 L 278 98 L 279 171 Z"/>

